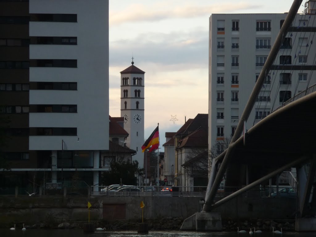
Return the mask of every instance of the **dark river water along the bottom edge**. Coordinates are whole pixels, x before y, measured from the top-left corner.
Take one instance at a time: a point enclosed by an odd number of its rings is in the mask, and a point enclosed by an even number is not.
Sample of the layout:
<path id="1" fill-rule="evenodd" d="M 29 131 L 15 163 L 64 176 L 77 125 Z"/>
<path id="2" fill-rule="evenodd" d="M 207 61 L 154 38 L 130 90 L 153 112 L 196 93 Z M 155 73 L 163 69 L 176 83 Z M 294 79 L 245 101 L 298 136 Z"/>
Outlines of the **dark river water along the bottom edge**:
<path id="1" fill-rule="evenodd" d="M 0 229 L 0 237 L 249 237 L 249 231 L 244 234 L 236 232 L 195 232 L 195 231 L 149 231 L 149 234 L 137 234 L 137 231 L 104 231 L 85 234 L 83 230 L 42 230 L 27 229 L 9 230 Z M 261 234 L 253 234 L 252 237 L 314 237 L 316 233 L 296 233 L 285 232 L 281 234 L 273 234 L 271 232 L 263 232 Z"/>

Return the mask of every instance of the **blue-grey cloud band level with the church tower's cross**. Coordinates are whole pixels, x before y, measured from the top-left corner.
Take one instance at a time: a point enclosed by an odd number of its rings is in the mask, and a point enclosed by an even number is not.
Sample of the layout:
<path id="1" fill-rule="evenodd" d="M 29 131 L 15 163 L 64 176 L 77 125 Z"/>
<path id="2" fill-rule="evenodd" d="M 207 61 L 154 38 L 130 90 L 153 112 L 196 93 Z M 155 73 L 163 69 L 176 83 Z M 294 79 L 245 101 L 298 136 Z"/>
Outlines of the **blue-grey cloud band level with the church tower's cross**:
<path id="1" fill-rule="evenodd" d="M 134 56 L 135 65 L 143 62 L 173 67 L 191 64 L 192 67 L 208 62 L 208 29 L 191 32 L 143 33 L 134 39 L 124 38 L 110 42 L 110 66 L 122 65 L 128 52 Z M 176 63 L 175 63 L 176 62 Z M 186 65 L 188 66 L 188 65 Z M 123 70 L 123 69 L 121 69 Z"/>

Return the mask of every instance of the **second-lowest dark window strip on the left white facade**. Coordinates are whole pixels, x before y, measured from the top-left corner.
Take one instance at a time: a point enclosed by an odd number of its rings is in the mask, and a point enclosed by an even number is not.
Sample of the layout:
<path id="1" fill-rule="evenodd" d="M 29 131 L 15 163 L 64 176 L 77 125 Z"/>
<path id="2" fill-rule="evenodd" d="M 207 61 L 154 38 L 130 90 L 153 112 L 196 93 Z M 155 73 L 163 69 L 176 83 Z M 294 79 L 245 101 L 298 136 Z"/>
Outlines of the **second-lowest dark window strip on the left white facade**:
<path id="1" fill-rule="evenodd" d="M 76 113 L 77 105 L 30 105 L 30 112 Z"/>

